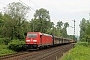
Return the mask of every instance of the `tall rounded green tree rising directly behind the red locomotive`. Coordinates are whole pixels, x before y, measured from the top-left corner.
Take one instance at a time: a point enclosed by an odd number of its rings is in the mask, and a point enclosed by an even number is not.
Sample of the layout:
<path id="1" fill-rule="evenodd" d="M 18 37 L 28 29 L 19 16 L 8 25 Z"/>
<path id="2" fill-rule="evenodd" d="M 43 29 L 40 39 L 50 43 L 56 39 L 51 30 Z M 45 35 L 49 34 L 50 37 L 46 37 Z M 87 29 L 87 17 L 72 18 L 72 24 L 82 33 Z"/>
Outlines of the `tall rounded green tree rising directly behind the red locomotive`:
<path id="1" fill-rule="evenodd" d="M 31 20 L 31 26 L 36 31 L 46 33 L 51 28 L 52 22 L 50 22 L 49 11 L 44 8 L 36 10 L 34 19 Z"/>

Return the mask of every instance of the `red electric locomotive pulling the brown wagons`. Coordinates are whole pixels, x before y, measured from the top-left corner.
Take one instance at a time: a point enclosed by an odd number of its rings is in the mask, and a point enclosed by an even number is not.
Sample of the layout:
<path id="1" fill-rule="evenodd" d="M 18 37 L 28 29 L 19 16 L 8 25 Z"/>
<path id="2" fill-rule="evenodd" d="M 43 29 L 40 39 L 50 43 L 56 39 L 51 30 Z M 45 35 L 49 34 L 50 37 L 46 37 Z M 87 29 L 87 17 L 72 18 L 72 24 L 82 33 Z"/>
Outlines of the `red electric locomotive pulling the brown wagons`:
<path id="1" fill-rule="evenodd" d="M 53 45 L 52 35 L 40 32 L 28 32 L 26 36 L 26 47 L 37 49 L 39 47 Z"/>

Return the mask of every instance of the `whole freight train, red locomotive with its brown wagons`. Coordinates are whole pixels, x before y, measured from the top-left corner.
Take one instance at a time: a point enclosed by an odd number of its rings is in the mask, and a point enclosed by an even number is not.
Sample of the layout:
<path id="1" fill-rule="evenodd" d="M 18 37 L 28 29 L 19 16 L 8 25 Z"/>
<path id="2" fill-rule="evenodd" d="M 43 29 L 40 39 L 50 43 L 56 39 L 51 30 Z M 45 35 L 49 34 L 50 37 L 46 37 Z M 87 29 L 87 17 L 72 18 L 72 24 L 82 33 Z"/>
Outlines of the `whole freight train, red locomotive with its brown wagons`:
<path id="1" fill-rule="evenodd" d="M 47 46 L 71 43 L 73 40 L 61 38 L 41 32 L 28 32 L 26 36 L 26 48 L 37 49 Z"/>

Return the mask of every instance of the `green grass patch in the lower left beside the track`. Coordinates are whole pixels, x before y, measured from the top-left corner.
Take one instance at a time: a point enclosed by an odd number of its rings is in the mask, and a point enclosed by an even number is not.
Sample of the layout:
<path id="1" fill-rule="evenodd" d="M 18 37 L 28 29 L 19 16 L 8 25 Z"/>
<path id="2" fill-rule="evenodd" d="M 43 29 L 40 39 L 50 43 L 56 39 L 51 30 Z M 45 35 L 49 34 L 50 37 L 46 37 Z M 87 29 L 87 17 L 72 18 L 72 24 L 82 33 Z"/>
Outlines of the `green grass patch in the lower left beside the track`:
<path id="1" fill-rule="evenodd" d="M 15 51 L 9 50 L 7 45 L 0 45 L 0 56 L 12 53 L 15 53 Z"/>

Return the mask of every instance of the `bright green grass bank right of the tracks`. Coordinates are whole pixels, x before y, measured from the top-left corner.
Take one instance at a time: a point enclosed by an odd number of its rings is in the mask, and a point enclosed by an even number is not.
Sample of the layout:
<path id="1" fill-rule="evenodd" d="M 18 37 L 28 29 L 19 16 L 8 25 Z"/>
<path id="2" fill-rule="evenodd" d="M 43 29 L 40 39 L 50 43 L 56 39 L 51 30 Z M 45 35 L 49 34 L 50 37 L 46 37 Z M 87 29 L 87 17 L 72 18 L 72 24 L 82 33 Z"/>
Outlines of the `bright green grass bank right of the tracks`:
<path id="1" fill-rule="evenodd" d="M 90 47 L 77 43 L 62 60 L 90 60 Z"/>

